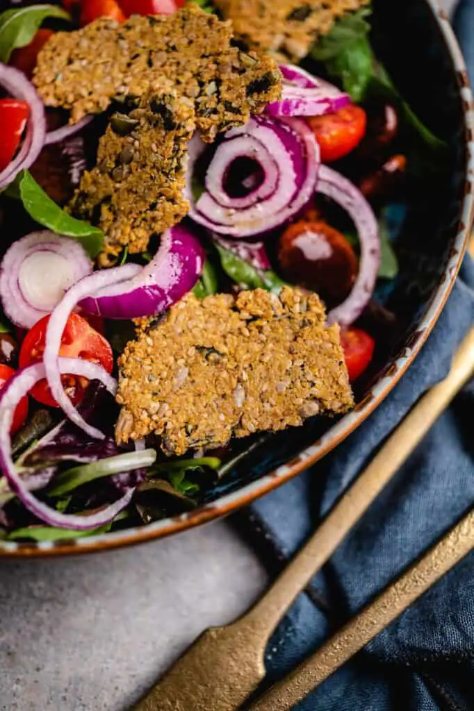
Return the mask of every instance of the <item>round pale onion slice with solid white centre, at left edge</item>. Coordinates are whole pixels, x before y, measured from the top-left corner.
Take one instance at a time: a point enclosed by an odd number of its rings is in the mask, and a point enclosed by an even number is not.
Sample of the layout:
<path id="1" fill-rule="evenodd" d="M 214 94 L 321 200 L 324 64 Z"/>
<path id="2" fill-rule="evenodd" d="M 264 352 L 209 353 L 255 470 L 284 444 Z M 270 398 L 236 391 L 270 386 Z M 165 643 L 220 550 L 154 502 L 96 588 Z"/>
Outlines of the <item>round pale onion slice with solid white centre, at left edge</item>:
<path id="1" fill-rule="evenodd" d="M 4 311 L 16 326 L 31 328 L 91 272 L 92 262 L 79 242 L 50 230 L 31 232 L 14 242 L 1 261 Z"/>

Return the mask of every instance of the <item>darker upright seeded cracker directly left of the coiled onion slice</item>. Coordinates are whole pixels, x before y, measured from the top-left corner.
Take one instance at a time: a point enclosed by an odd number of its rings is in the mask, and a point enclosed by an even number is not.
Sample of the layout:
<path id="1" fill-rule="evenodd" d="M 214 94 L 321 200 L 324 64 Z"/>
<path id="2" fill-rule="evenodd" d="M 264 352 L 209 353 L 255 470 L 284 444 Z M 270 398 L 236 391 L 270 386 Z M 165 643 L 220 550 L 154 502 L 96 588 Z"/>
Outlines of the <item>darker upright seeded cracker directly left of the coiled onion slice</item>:
<path id="1" fill-rule="evenodd" d="M 100 264 L 128 246 L 147 249 L 186 215 L 183 159 L 194 131 L 194 103 L 171 89 L 151 91 L 129 114 L 115 113 L 100 138 L 97 167 L 80 180 L 70 212 L 105 232 Z"/>

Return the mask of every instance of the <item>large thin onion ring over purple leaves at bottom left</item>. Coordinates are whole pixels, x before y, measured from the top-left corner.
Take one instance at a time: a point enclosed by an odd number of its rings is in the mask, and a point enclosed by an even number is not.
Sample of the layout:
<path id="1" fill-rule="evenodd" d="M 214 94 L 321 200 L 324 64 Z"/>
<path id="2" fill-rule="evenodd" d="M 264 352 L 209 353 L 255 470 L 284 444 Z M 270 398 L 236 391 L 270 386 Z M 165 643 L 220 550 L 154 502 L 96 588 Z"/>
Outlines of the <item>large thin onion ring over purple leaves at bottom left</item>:
<path id="1" fill-rule="evenodd" d="M 81 358 L 59 358 L 58 368 L 60 373 L 72 373 L 80 375 L 89 380 L 101 380 L 107 390 L 115 392 L 115 380 L 105 373 L 105 370 Z M 59 513 L 46 503 L 39 501 L 31 491 L 28 491 L 28 484 L 23 481 L 16 471 L 16 466 L 11 459 L 11 437 L 10 427 L 14 416 L 15 407 L 22 397 L 24 397 L 33 385 L 42 380 L 46 375 L 43 363 L 34 363 L 27 368 L 19 370 L 10 378 L 0 395 L 0 466 L 1 471 L 6 476 L 9 486 L 18 496 L 23 506 L 33 515 L 43 520 L 51 526 L 59 528 L 73 528 L 74 530 L 90 530 L 98 526 L 110 523 L 125 506 L 127 506 L 133 496 L 135 488 L 128 488 L 124 496 L 118 501 L 111 503 L 102 510 L 95 511 L 90 515 L 75 515 L 70 513 Z"/>

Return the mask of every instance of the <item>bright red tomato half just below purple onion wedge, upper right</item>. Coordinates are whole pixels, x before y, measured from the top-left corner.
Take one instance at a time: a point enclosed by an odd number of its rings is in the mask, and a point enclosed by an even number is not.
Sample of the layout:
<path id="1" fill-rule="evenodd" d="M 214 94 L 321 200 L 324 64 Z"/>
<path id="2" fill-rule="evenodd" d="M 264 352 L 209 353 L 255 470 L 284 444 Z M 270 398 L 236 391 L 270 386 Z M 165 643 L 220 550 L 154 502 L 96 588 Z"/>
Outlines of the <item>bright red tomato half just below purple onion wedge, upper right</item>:
<path id="1" fill-rule="evenodd" d="M 364 138 L 367 114 L 360 106 L 347 106 L 334 114 L 307 119 L 321 149 L 323 163 L 337 161 Z"/>

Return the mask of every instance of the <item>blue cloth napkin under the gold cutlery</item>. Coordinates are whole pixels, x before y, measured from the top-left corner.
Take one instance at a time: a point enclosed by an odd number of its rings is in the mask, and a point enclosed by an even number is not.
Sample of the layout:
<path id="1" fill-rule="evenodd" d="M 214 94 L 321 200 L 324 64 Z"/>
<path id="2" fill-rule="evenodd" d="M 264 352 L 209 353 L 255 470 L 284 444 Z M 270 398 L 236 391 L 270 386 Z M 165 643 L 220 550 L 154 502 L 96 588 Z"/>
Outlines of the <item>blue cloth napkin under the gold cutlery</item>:
<path id="1" fill-rule="evenodd" d="M 474 0 L 457 14 L 465 46 Z M 474 264 L 465 260 L 441 319 L 384 404 L 330 456 L 251 507 L 251 541 L 273 572 L 315 530 L 381 442 L 448 372 L 474 322 Z M 268 646 L 268 681 L 315 650 L 473 506 L 474 383 L 453 402 L 300 595 Z M 474 555 L 297 705 L 301 711 L 474 710 Z"/>

